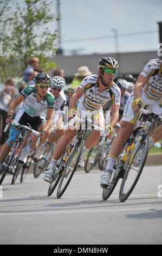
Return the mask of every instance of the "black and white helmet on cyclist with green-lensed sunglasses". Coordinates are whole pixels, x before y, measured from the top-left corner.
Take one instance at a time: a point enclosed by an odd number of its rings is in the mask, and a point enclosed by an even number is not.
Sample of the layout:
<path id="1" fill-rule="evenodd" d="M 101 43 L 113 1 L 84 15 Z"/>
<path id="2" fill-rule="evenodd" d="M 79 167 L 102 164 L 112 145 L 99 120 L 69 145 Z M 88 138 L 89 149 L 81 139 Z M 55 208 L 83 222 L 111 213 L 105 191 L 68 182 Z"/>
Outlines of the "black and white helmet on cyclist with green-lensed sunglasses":
<path id="1" fill-rule="evenodd" d="M 100 59 L 98 69 L 118 69 L 119 64 L 117 60 L 112 57 L 104 57 Z"/>

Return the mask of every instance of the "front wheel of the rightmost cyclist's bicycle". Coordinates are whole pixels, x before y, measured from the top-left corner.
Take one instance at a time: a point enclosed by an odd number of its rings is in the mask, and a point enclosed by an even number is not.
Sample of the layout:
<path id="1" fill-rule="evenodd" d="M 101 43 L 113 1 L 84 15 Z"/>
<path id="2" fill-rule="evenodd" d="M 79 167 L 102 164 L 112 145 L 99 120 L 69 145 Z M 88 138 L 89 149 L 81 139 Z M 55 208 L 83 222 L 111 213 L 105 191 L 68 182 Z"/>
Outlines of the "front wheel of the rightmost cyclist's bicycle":
<path id="1" fill-rule="evenodd" d="M 133 153 L 133 160 L 128 158 L 126 162 L 126 172 L 121 183 L 119 199 L 120 202 L 124 202 L 132 193 L 135 185 L 137 184 L 141 175 L 142 169 L 145 166 L 149 150 L 149 139 L 145 138 L 138 145 L 138 148 Z"/>

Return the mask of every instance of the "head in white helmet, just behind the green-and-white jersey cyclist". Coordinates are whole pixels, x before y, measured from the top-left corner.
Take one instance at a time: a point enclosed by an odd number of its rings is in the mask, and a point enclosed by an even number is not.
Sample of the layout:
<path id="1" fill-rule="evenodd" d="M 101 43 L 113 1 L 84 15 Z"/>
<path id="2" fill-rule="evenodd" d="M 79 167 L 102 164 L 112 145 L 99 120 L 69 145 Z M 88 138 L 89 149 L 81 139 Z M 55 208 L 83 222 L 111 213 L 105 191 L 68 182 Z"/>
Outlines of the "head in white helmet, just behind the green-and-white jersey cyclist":
<path id="1" fill-rule="evenodd" d="M 59 96 L 61 90 L 66 85 L 66 82 L 61 76 L 54 76 L 50 81 L 51 93 L 57 97 Z"/>

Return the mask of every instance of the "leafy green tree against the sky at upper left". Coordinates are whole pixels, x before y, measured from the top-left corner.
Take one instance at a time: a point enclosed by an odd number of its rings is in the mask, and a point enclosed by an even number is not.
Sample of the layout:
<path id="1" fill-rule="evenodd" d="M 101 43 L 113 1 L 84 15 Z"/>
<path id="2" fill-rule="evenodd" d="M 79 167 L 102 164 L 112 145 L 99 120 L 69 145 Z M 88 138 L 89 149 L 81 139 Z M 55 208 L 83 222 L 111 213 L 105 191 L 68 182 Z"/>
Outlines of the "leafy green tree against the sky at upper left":
<path id="1" fill-rule="evenodd" d="M 5 42 L 8 41 L 6 55 L 10 62 L 7 67 L 10 76 L 22 76 L 31 56 L 40 58 L 40 67 L 46 71 L 56 66 L 54 62 L 49 62 L 49 58 L 56 52 L 57 38 L 57 31 L 51 32 L 48 29 L 48 23 L 57 19 L 51 14 L 51 3 L 44 0 L 24 0 L 23 6 L 16 3 L 16 10 L 12 13 L 7 9 L 10 19 Z"/>

